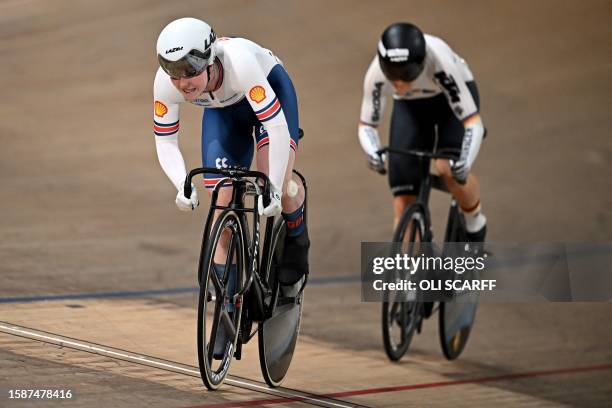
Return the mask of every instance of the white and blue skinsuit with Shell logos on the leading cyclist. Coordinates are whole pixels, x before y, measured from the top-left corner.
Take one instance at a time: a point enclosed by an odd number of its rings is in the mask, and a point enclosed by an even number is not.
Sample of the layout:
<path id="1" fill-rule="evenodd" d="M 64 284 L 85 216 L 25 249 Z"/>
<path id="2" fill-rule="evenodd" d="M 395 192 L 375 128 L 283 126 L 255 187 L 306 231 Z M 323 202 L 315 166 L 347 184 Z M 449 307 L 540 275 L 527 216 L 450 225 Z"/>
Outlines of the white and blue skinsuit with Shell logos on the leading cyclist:
<path id="1" fill-rule="evenodd" d="M 253 132 L 257 149 L 269 145 L 269 177 L 282 189 L 289 149 L 298 145 L 297 97 L 281 61 L 270 51 L 243 38 L 217 39 L 220 87 L 200 95 L 203 106 L 202 163 L 204 167 L 249 167 Z M 180 105 L 186 102 L 161 68 L 154 83 L 154 132 L 160 164 L 180 189 L 186 170 L 178 147 Z M 213 188 L 220 178 L 205 174 Z"/>

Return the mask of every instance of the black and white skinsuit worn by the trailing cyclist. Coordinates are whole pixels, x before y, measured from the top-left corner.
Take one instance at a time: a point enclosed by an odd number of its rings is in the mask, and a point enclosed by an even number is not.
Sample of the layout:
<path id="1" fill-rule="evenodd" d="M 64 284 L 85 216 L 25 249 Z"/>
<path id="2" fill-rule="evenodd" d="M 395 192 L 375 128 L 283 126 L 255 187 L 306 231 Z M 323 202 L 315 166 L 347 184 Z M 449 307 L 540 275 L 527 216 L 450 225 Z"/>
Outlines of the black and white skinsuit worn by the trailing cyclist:
<path id="1" fill-rule="evenodd" d="M 405 95 L 394 93 L 392 83 L 380 69 L 378 57 L 368 68 L 361 104 L 361 126 L 377 127 L 387 99 L 393 93 L 391 147 L 400 149 L 435 149 L 474 162 L 484 134 L 480 119 L 480 100 L 474 77 L 465 60 L 440 38 L 425 34 L 425 66 Z M 362 137 L 366 154 L 374 154 L 380 141 Z M 394 196 L 415 195 L 419 189 L 417 159 L 390 155 L 389 185 Z"/>

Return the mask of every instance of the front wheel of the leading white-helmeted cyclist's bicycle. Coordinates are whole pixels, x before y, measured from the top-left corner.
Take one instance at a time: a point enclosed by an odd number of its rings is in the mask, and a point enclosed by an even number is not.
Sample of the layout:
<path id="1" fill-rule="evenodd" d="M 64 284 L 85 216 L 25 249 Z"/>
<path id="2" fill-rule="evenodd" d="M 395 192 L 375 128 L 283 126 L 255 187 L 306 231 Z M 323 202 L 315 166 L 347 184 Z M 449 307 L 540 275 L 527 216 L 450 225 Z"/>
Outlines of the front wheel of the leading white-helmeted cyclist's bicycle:
<path id="1" fill-rule="evenodd" d="M 229 371 L 242 315 L 242 299 L 233 296 L 244 286 L 246 271 L 245 235 L 240 217 L 234 211 L 224 210 L 210 235 L 203 239 L 198 271 L 198 362 L 204 385 L 216 390 Z M 220 253 L 220 241 L 227 242 L 227 256 Z"/>

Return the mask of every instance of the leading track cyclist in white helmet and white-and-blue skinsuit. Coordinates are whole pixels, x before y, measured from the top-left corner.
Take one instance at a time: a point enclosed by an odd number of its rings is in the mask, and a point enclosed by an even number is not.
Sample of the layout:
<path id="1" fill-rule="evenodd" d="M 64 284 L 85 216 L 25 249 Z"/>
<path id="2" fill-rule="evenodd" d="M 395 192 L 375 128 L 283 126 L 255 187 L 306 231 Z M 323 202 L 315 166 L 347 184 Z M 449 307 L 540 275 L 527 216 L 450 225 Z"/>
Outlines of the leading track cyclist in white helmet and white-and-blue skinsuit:
<path id="1" fill-rule="evenodd" d="M 257 168 L 272 183 L 270 204 L 264 208 L 260 200 L 259 212 L 268 217 L 282 214 L 287 225 L 278 279 L 286 285 L 299 281 L 308 273 L 310 241 L 299 178 L 294 179 L 297 194 L 286 194 L 299 142 L 299 122 L 295 89 L 282 62 L 270 50 L 247 39 L 217 37 L 207 23 L 195 18 L 180 18 L 161 31 L 157 59 L 155 144 L 161 167 L 178 191 L 177 207 L 191 211 L 198 206 L 195 188 L 191 197 L 183 193 L 187 171 L 178 144 L 179 108 L 190 102 L 204 107 L 204 167 L 248 168 L 256 146 Z M 218 176 L 204 175 L 209 194 L 220 181 Z M 231 186 L 223 187 L 217 204 L 227 205 L 230 200 Z M 227 240 L 221 245 L 226 251 Z M 216 252 L 219 275 L 223 274 L 225 251 Z M 231 291 L 231 283 L 229 286 Z M 225 343 L 224 336 L 224 330 L 219 330 L 215 355 L 222 353 L 217 345 Z"/>

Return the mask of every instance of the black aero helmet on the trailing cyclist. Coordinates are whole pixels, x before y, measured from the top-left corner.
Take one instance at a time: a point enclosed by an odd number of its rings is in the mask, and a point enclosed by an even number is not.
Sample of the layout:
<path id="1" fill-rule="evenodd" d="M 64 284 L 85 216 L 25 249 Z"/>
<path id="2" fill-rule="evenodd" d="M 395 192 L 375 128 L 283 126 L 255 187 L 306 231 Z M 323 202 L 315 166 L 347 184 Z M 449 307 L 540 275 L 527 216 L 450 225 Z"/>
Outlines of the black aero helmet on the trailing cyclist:
<path id="1" fill-rule="evenodd" d="M 378 42 L 378 61 L 389 80 L 414 81 L 425 63 L 423 32 L 414 24 L 391 24 Z"/>

